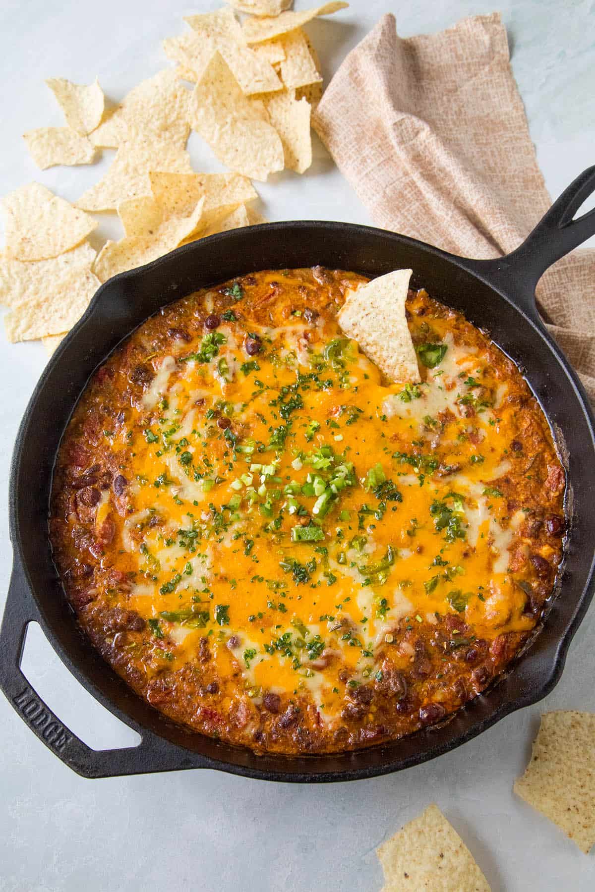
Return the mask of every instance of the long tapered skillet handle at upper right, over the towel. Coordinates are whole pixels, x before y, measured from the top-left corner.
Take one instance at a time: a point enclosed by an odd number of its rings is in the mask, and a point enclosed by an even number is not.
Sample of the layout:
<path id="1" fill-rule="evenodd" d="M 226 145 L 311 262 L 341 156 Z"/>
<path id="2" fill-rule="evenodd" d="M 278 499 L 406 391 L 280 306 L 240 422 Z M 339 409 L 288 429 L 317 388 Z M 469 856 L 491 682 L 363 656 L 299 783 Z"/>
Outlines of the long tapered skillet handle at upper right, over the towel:
<path id="1" fill-rule="evenodd" d="M 496 260 L 471 260 L 473 272 L 541 324 L 535 286 L 553 263 L 595 235 L 595 209 L 573 219 L 593 192 L 595 166 L 583 170 L 564 190 L 516 251 Z"/>

